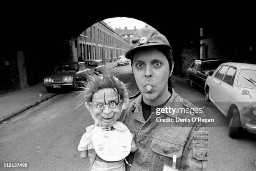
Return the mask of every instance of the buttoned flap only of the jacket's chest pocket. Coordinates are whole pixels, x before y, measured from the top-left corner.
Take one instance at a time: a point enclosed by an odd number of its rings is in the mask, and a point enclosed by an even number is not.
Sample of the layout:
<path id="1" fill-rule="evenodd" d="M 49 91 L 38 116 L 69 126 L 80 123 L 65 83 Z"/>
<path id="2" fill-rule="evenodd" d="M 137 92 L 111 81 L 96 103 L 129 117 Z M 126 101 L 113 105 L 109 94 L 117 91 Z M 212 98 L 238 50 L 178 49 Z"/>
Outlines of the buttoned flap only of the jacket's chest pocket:
<path id="1" fill-rule="evenodd" d="M 179 158 L 182 156 L 184 145 L 178 145 L 170 142 L 166 142 L 159 139 L 154 139 L 151 143 L 151 149 L 155 153 L 161 154 L 162 156 L 166 157 L 173 157 L 174 155 Z"/>

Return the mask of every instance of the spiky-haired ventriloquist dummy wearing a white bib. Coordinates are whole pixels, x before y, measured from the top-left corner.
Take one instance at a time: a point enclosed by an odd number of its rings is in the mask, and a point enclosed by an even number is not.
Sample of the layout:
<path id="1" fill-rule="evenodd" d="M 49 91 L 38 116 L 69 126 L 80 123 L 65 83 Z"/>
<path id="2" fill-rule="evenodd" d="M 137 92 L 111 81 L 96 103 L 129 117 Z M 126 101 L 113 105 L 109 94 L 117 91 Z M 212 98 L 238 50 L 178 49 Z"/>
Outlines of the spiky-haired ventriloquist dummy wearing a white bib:
<path id="1" fill-rule="evenodd" d="M 128 99 L 127 85 L 105 70 L 88 75 L 78 97 L 95 121 L 78 145 L 81 158 L 90 158 L 89 171 L 125 171 L 125 157 L 137 149 L 133 134 L 117 121 Z"/>

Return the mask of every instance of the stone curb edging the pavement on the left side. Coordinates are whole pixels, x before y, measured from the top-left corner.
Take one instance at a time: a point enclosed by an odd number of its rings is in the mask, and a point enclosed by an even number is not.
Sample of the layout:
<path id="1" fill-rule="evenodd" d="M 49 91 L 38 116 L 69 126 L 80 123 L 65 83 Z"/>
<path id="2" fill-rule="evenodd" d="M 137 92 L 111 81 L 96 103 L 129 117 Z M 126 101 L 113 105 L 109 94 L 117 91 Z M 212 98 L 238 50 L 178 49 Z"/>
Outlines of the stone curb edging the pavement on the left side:
<path id="1" fill-rule="evenodd" d="M 10 113 L 10 114 L 8 114 L 8 115 L 6 115 L 6 116 L 0 118 L 0 124 L 3 123 L 3 122 L 5 122 L 6 120 L 11 119 L 12 117 L 15 117 L 15 116 L 19 115 L 19 114 L 22 113 L 22 112 L 25 112 L 26 110 L 28 110 L 28 109 L 30 109 L 30 108 L 32 108 L 32 107 L 35 107 L 36 105 L 38 105 L 38 104 L 40 104 L 40 103 L 42 103 L 42 102 L 44 102 L 44 101 L 50 99 L 51 97 L 56 96 L 56 95 L 57 95 L 57 94 L 52 94 L 51 96 L 47 96 L 46 98 L 44 98 L 44 99 L 42 99 L 42 100 L 38 100 L 37 102 L 34 102 L 34 103 L 31 104 L 31 105 L 28 105 L 28 106 L 26 106 L 26 107 L 23 107 L 23 108 L 21 108 L 21 109 L 19 109 L 19 110 L 16 110 L 15 112 L 12 112 L 12 113 Z"/>

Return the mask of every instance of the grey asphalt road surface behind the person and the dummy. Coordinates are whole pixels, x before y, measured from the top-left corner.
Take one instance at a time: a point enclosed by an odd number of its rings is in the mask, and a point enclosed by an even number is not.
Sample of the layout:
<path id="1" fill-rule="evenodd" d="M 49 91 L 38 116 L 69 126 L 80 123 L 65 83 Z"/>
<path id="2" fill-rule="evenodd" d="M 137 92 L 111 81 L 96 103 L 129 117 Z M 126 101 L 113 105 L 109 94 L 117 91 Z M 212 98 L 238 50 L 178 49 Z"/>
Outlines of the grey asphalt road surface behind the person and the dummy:
<path id="1" fill-rule="evenodd" d="M 138 91 L 131 65 L 110 70 L 125 83 L 131 94 Z M 201 105 L 204 94 L 176 79 L 175 91 L 183 98 Z M 0 162 L 28 162 L 19 171 L 86 171 L 88 159 L 80 159 L 77 146 L 85 128 L 93 124 L 85 108 L 77 108 L 77 94 L 59 94 L 52 99 L 0 124 Z M 199 106 L 198 106 L 199 107 Z M 228 137 L 228 120 L 217 108 L 205 107 L 207 118 L 221 127 L 208 127 L 210 156 L 208 171 L 255 171 L 256 136 L 244 133 L 239 140 Z M 0 168 L 0 171 L 17 170 Z"/>

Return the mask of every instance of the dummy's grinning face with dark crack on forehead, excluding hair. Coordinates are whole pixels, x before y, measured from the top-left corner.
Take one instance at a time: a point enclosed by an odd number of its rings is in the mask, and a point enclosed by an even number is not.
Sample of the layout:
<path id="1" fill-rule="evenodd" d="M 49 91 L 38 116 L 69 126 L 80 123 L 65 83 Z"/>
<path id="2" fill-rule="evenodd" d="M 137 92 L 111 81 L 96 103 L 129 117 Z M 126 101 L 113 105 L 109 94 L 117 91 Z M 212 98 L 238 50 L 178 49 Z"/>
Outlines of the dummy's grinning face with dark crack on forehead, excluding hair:
<path id="1" fill-rule="evenodd" d="M 93 94 L 89 107 L 101 125 L 110 127 L 120 116 L 120 103 L 117 90 L 107 88 Z"/>

